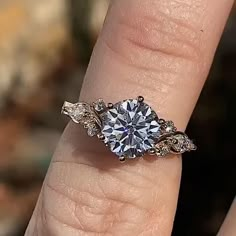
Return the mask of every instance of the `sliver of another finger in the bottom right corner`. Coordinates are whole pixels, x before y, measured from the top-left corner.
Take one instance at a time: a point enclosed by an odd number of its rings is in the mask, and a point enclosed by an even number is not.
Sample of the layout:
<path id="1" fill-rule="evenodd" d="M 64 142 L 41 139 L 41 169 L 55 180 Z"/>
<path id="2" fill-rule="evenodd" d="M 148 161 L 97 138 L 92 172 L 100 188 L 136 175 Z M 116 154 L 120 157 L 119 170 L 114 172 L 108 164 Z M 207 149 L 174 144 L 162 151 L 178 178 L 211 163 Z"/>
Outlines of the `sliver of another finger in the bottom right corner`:
<path id="1" fill-rule="evenodd" d="M 234 236 L 234 235 L 236 235 L 236 202 L 235 200 L 218 233 L 218 236 Z"/>

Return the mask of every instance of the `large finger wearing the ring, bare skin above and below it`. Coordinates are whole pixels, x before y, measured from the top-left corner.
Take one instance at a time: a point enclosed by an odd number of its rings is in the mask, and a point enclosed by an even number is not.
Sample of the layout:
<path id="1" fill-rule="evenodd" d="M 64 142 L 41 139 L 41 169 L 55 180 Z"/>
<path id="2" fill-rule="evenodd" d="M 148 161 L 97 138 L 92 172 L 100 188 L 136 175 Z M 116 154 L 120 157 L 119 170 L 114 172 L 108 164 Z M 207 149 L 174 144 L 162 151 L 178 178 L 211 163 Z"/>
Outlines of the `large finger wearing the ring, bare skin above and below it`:
<path id="1" fill-rule="evenodd" d="M 184 130 L 207 77 L 232 0 L 114 0 L 80 100 L 138 95 Z M 181 158 L 119 163 L 70 123 L 26 231 L 32 235 L 171 235 Z"/>

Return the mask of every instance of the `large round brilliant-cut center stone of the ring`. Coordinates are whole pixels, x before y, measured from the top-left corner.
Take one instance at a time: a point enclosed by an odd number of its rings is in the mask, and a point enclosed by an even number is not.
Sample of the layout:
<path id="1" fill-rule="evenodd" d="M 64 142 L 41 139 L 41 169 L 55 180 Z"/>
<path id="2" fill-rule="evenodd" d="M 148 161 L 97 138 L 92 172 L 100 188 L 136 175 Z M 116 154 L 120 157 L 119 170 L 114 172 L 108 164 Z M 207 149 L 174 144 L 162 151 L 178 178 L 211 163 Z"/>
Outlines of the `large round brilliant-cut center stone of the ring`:
<path id="1" fill-rule="evenodd" d="M 156 113 L 146 103 L 129 99 L 116 103 L 102 117 L 105 143 L 118 156 L 136 158 L 160 136 Z"/>

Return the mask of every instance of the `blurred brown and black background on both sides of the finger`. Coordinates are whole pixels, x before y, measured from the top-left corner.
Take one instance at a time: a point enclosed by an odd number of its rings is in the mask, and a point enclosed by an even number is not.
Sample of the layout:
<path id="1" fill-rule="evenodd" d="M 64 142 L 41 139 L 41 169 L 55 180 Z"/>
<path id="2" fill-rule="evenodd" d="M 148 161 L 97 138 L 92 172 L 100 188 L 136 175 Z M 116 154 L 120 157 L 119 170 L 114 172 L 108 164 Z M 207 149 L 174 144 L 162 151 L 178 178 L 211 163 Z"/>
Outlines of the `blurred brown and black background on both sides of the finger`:
<path id="1" fill-rule="evenodd" d="M 0 1 L 0 236 L 23 236 L 108 0 Z M 217 17 L 217 16 L 216 16 Z M 32 102 L 33 101 L 33 102 Z M 211 236 L 236 194 L 236 7 L 188 127 L 174 236 Z M 135 236 L 135 235 L 134 235 Z"/>

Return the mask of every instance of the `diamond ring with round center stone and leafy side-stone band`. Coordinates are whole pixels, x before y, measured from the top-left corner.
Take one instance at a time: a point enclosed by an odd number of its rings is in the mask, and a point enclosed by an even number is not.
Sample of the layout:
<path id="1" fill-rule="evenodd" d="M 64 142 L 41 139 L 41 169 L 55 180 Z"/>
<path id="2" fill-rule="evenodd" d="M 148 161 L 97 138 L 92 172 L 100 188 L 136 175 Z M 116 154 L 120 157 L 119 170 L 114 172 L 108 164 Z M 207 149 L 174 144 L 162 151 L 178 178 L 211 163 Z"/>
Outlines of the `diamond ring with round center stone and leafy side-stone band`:
<path id="1" fill-rule="evenodd" d="M 97 136 L 120 161 L 148 153 L 158 157 L 196 150 L 188 136 L 177 131 L 172 121 L 160 119 L 144 98 L 106 104 L 98 99 L 92 104 L 65 102 L 62 113 Z"/>

